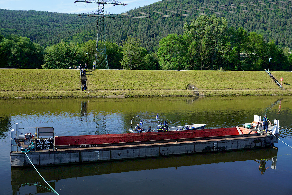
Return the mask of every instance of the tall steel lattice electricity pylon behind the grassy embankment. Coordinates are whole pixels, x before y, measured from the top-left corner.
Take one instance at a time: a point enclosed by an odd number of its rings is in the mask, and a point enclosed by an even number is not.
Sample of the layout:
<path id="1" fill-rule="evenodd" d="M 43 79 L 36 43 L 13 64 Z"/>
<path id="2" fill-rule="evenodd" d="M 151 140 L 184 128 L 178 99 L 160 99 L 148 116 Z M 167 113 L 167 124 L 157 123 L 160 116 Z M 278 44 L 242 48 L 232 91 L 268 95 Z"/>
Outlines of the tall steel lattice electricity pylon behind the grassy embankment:
<path id="1" fill-rule="evenodd" d="M 122 5 L 122 6 L 125 6 L 126 4 L 123 4 L 118 1 L 112 1 L 112 0 L 91 0 L 91 1 L 75 1 L 75 2 L 83 2 L 84 4 L 85 3 L 98 4 L 97 14 L 95 13 L 96 11 L 94 11 L 91 13 L 84 13 L 78 16 L 79 17 L 81 16 L 97 17 L 96 52 L 95 52 L 95 60 L 93 64 L 93 69 L 96 69 L 99 66 L 104 67 L 105 69 L 109 69 L 109 64 L 107 62 L 107 52 L 105 50 L 105 18 L 114 18 L 114 16 L 105 15 L 104 4 Z M 111 13 L 107 13 L 107 14 L 111 14 Z M 98 41 L 100 41 L 101 44 L 98 45 Z"/>

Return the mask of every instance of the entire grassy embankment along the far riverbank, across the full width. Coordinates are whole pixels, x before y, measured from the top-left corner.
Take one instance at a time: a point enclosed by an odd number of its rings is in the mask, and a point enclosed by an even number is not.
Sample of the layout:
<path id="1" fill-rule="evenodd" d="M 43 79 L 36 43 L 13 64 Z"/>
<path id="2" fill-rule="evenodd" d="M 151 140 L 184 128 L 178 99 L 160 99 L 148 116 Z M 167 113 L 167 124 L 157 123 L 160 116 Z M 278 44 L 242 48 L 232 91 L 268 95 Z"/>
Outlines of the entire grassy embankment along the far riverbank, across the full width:
<path id="1" fill-rule="evenodd" d="M 292 72 L 271 73 L 286 90 L 263 71 L 88 70 L 88 93 L 79 70 L 0 69 L 0 98 L 291 95 Z"/>

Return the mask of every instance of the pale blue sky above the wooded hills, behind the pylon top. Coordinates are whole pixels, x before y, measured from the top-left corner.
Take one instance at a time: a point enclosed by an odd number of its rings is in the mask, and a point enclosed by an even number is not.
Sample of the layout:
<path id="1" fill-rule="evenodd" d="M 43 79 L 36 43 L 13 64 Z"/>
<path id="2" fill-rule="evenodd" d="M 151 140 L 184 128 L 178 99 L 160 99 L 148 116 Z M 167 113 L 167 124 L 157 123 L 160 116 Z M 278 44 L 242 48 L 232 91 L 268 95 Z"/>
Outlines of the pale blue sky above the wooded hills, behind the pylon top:
<path id="1" fill-rule="evenodd" d="M 159 0 L 119 0 L 119 2 L 128 5 L 105 5 L 105 11 L 115 14 L 123 13 L 134 8 L 153 4 L 157 1 Z M 97 4 L 74 2 L 75 0 L 0 0 L 0 8 L 11 10 L 50 11 L 59 13 L 87 13 L 98 9 Z"/>

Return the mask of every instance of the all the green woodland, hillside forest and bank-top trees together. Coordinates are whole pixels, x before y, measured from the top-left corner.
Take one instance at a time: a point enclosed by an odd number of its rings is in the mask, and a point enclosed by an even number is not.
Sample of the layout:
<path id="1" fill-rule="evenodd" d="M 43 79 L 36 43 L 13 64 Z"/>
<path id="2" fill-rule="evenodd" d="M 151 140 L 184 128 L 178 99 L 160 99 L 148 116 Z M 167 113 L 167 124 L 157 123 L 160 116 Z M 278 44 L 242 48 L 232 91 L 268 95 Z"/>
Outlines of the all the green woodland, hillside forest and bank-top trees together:
<path id="1" fill-rule="evenodd" d="M 273 71 L 291 71 L 291 7 L 291 0 L 160 1 L 107 15 L 115 17 L 105 24 L 109 68 L 264 70 L 271 62 Z M 0 15 L 1 68 L 93 64 L 96 17 L 3 9 Z"/>

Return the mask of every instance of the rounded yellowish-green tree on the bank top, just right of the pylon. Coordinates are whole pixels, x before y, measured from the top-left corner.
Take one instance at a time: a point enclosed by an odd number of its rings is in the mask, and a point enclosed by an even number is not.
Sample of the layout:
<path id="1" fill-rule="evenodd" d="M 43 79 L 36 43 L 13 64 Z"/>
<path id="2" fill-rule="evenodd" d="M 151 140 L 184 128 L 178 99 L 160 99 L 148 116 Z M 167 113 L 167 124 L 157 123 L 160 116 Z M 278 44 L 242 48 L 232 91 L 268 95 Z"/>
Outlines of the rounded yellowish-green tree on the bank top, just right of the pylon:
<path id="1" fill-rule="evenodd" d="M 146 49 L 142 48 L 138 39 L 128 37 L 122 42 L 123 45 L 123 58 L 120 63 L 124 69 L 137 69 L 145 64 L 144 57 L 147 54 Z"/>

